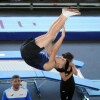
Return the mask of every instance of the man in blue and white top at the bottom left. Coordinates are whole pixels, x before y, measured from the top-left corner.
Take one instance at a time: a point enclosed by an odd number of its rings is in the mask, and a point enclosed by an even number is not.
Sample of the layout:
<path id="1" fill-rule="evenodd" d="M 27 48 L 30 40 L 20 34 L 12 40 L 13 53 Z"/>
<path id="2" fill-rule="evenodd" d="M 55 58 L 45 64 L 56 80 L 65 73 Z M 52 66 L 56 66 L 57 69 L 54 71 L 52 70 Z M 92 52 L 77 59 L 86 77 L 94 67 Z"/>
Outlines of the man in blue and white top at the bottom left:
<path id="1" fill-rule="evenodd" d="M 12 76 L 12 87 L 3 92 L 2 100 L 31 100 L 29 91 L 20 87 L 21 79 L 18 75 Z"/>

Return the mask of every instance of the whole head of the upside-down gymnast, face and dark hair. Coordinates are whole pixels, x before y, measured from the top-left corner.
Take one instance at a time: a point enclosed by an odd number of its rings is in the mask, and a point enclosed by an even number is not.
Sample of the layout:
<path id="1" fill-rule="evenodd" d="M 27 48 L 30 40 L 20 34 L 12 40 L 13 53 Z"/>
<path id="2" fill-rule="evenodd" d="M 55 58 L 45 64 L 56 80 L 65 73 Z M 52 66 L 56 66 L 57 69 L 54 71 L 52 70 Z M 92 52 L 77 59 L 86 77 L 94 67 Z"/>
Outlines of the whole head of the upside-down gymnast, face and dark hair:
<path id="1" fill-rule="evenodd" d="M 62 58 L 62 57 L 56 57 L 56 70 L 59 72 L 65 72 L 69 66 L 69 60 Z"/>

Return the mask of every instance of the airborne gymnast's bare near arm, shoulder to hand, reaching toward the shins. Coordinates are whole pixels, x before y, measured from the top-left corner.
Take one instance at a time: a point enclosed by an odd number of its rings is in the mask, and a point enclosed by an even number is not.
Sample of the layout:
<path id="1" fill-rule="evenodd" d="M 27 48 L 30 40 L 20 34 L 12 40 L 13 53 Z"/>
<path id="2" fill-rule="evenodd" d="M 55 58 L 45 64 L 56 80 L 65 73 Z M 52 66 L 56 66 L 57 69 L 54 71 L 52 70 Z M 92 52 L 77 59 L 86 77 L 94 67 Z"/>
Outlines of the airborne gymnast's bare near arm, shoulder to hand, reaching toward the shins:
<path id="1" fill-rule="evenodd" d="M 44 64 L 44 69 L 45 70 L 51 70 L 52 68 L 56 67 L 55 66 L 55 56 L 56 56 L 56 53 L 58 52 L 58 50 L 59 50 L 59 48 L 62 44 L 62 41 L 63 41 L 64 37 L 65 37 L 65 27 L 63 27 L 61 37 L 59 38 L 59 40 L 55 43 L 55 45 L 52 48 L 52 52 L 51 52 L 49 61 Z"/>

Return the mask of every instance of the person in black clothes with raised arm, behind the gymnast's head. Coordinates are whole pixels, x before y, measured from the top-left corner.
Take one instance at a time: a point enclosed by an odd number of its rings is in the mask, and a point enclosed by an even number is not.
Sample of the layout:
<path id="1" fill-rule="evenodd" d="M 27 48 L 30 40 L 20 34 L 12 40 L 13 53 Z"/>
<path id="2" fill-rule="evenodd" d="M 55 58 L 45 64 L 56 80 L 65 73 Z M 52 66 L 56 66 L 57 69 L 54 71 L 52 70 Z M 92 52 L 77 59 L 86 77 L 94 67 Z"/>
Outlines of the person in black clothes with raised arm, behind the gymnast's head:
<path id="1" fill-rule="evenodd" d="M 74 63 L 72 62 L 74 56 L 70 52 L 62 54 L 62 56 L 63 58 L 69 60 L 69 66 L 66 67 L 65 72 L 60 72 L 62 78 L 60 83 L 61 100 L 72 100 L 75 90 L 75 82 L 73 74 L 77 75 L 78 72 Z"/>

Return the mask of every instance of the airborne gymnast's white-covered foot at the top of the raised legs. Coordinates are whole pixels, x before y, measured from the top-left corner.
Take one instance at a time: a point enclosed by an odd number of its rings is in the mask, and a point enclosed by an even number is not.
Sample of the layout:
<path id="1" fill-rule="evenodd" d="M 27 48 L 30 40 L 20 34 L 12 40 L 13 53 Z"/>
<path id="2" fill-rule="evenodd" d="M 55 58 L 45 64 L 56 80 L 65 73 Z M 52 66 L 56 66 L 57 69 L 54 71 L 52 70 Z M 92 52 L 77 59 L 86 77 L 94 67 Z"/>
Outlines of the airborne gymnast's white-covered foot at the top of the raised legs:
<path id="1" fill-rule="evenodd" d="M 80 15 L 81 13 L 76 9 L 63 8 L 62 14 L 66 17 L 69 17 L 69 16 L 74 16 L 74 15 Z"/>

